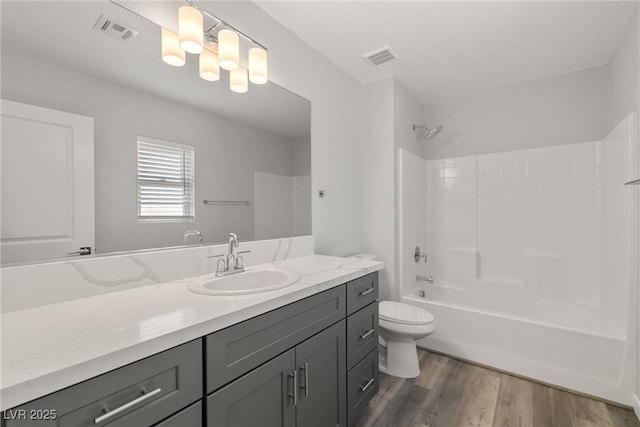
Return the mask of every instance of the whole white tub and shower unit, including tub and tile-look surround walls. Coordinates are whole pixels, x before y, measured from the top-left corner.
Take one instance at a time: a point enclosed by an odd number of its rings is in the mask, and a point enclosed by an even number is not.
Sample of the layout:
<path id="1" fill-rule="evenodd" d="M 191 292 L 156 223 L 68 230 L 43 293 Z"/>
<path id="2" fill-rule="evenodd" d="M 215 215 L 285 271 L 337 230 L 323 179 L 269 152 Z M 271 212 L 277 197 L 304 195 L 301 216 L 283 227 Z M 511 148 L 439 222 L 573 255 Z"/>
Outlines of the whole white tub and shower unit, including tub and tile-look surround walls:
<path id="1" fill-rule="evenodd" d="M 400 151 L 402 301 L 438 321 L 418 345 L 634 404 L 638 144 L 634 113 L 601 141 Z"/>

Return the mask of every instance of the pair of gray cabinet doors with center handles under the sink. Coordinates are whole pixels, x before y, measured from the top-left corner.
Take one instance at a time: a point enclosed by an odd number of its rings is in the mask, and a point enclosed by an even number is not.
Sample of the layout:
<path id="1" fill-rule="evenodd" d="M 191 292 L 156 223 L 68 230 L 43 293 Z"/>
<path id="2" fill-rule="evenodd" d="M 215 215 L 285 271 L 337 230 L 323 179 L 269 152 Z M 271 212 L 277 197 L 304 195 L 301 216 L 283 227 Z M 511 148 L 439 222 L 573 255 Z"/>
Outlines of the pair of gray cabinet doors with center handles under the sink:
<path id="1" fill-rule="evenodd" d="M 346 424 L 344 320 L 207 398 L 207 426 Z"/>

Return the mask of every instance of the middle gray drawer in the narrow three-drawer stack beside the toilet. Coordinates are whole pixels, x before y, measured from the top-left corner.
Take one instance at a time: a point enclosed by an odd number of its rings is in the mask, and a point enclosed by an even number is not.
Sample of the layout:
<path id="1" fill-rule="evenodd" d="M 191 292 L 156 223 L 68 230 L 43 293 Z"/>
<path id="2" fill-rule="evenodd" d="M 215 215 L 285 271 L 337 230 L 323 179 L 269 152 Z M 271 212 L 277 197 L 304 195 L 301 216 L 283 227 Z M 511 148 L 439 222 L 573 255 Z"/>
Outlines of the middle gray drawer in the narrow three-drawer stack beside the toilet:
<path id="1" fill-rule="evenodd" d="M 378 302 L 347 318 L 347 369 L 378 346 Z"/>

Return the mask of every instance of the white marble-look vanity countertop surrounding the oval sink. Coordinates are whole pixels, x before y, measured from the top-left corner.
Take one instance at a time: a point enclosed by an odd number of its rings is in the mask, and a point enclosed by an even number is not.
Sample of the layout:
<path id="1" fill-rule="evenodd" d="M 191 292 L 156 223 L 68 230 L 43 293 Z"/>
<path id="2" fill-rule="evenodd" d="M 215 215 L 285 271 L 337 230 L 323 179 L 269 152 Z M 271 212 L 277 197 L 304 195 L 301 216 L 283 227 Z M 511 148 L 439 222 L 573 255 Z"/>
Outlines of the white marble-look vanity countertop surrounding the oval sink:
<path id="1" fill-rule="evenodd" d="M 380 261 L 309 255 L 253 266 L 300 274 L 255 295 L 201 295 L 191 278 L 12 311 L 2 328 L 2 410 L 381 270 Z"/>

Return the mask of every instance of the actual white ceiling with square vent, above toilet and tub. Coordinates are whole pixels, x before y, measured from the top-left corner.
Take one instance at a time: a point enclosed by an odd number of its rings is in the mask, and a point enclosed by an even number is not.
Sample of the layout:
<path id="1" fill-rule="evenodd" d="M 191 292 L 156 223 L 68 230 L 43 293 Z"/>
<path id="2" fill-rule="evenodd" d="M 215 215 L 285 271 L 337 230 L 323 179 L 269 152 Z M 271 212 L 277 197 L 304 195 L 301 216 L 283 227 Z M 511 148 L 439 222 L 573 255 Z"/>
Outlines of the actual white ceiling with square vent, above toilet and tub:
<path id="1" fill-rule="evenodd" d="M 256 1 L 362 84 L 394 76 L 423 105 L 609 62 L 635 1 Z M 390 45 L 376 68 L 361 55 Z"/>

